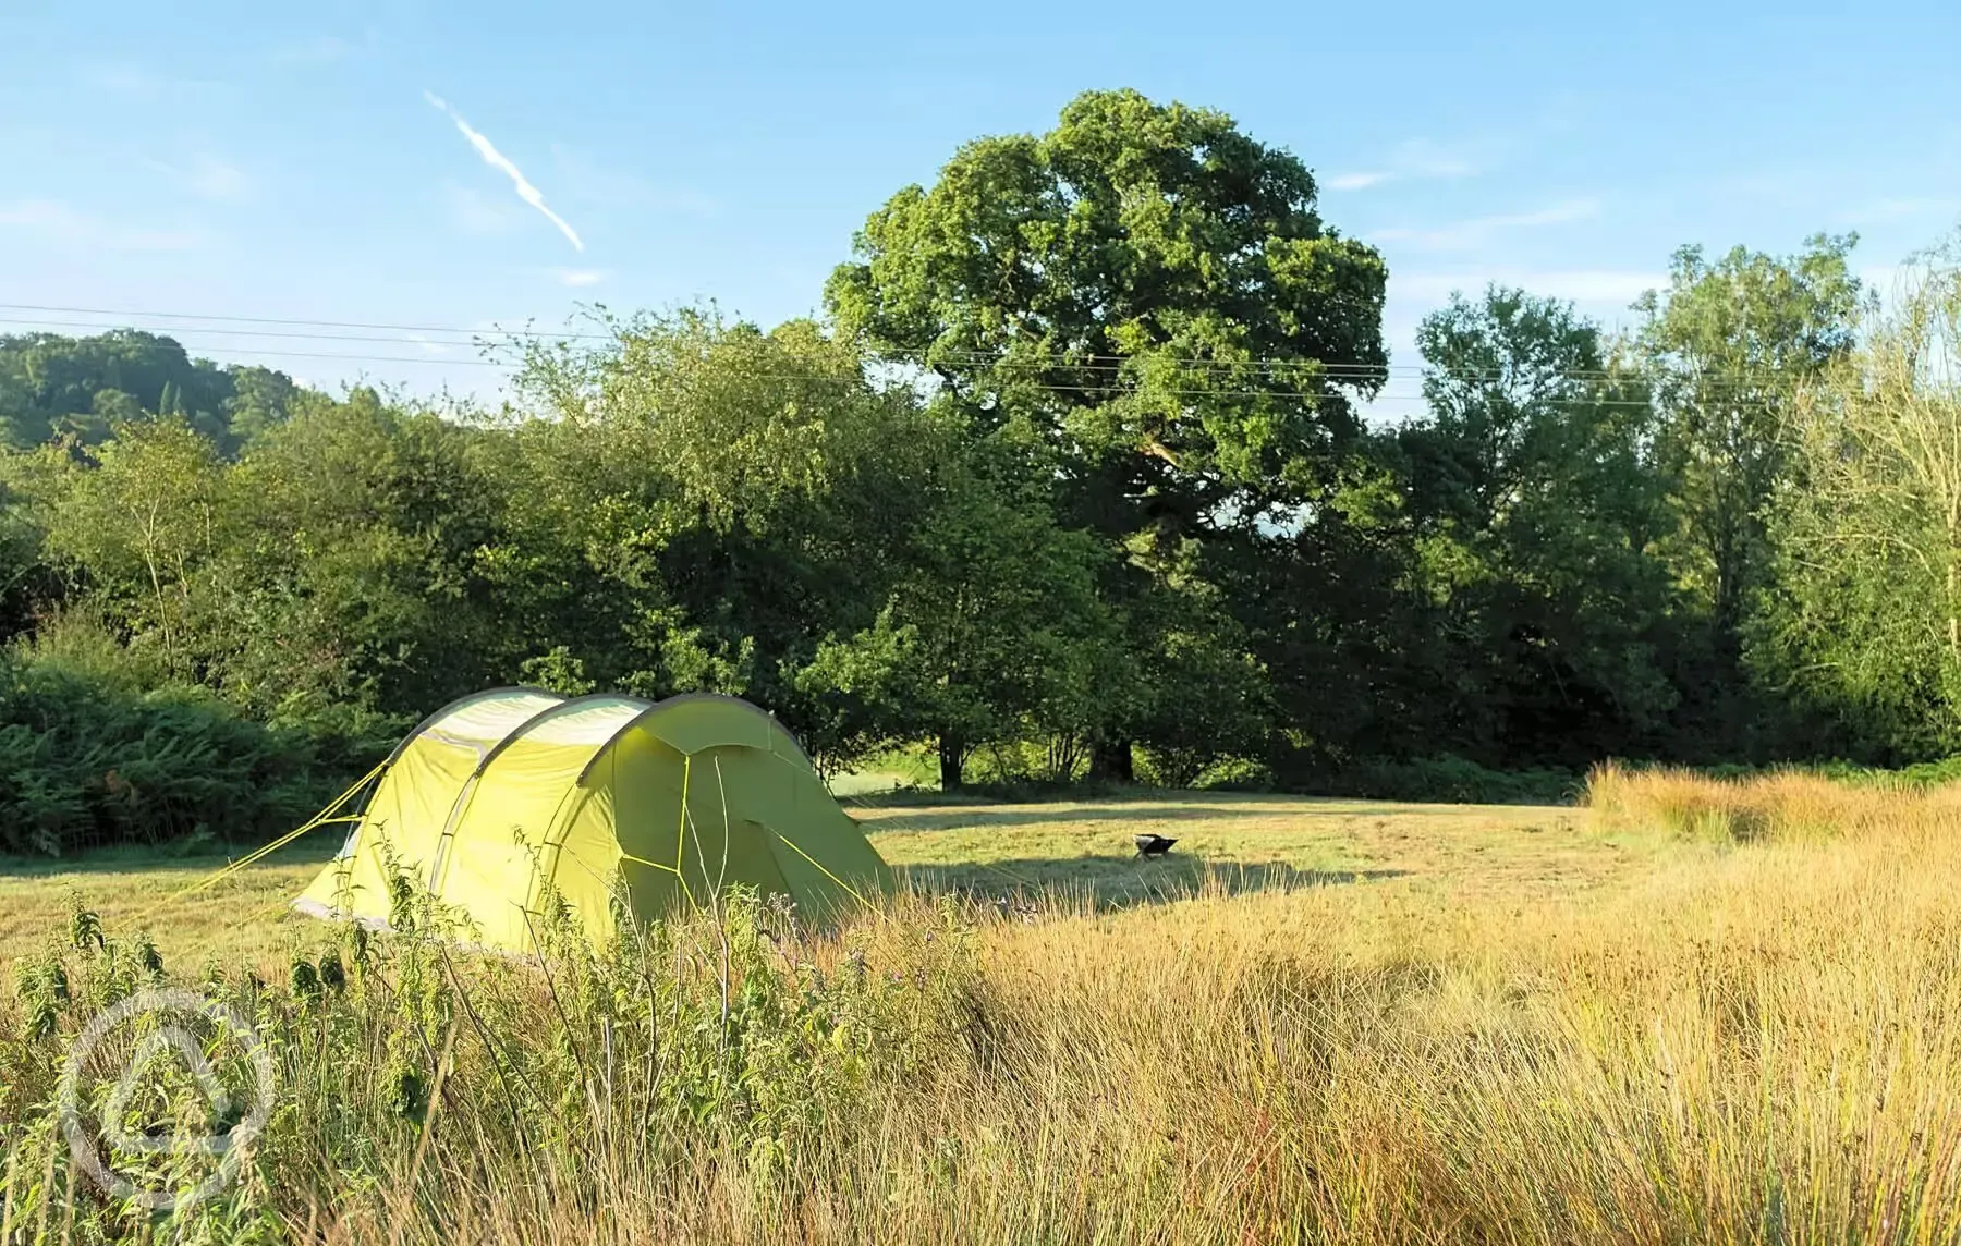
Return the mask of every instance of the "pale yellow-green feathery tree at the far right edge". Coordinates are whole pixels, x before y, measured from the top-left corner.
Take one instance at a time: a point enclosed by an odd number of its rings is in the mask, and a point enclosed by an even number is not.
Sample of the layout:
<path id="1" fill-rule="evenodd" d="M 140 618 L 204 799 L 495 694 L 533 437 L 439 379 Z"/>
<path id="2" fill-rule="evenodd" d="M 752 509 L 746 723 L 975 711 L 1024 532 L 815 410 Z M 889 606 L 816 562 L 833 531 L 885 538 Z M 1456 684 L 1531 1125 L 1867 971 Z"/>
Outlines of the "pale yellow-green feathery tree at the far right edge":
<path id="1" fill-rule="evenodd" d="M 1961 748 L 1961 241 L 1792 404 L 1757 672 L 1879 760 Z"/>

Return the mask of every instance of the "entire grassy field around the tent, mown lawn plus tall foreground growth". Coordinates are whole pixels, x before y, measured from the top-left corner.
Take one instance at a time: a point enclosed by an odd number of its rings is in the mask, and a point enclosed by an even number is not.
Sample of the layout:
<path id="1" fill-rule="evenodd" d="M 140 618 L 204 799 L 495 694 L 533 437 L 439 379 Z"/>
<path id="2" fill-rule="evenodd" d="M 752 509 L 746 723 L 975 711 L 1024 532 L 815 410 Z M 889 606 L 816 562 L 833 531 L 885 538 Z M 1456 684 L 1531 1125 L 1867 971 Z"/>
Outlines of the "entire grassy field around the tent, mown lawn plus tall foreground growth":
<path id="1" fill-rule="evenodd" d="M 318 868 L 282 860 L 157 925 L 261 960 L 224 982 L 290 1095 L 194 1230 L 1961 1240 L 1961 795 L 1608 772 L 1590 805 L 861 807 L 918 895 L 835 938 L 731 913 L 549 978 L 398 940 L 329 995 L 284 980 L 335 934 L 278 915 Z M 206 864 L 12 874 L 0 954 Z M 69 962 L 61 1032 L 126 972 Z M 69 1197 L 27 1111 L 61 1038 L 6 1007 L 8 1222 L 165 1240 Z"/>

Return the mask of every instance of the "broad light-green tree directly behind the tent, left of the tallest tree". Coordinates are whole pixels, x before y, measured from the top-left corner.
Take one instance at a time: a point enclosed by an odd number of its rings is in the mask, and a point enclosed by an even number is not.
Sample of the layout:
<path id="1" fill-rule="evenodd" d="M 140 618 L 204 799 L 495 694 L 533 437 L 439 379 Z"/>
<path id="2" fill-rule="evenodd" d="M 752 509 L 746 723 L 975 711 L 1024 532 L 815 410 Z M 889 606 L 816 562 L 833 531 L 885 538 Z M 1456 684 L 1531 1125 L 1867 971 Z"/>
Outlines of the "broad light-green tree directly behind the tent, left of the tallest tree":
<path id="1" fill-rule="evenodd" d="M 602 688 L 812 721 L 794 674 L 826 631 L 877 617 L 945 429 L 810 323 L 602 323 L 608 343 L 531 353 L 520 390 L 541 419 L 486 445 L 500 619 Z"/>

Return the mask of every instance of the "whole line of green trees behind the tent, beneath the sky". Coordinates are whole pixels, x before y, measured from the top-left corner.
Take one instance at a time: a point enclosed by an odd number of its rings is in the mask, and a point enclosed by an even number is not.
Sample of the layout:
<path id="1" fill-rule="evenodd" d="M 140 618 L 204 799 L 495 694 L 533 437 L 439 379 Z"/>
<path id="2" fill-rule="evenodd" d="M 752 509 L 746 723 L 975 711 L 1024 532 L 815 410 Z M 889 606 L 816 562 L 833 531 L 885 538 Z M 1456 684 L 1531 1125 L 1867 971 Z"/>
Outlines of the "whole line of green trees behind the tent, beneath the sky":
<path id="1" fill-rule="evenodd" d="M 1941 756 L 1961 266 L 1877 300 L 1851 247 L 1683 249 L 1618 337 L 1492 288 L 1392 368 L 1300 161 L 1108 92 L 896 194 L 822 321 L 526 339 L 496 411 L 0 339 L 14 686 L 343 770 L 500 682 L 731 692 L 949 786 Z"/>

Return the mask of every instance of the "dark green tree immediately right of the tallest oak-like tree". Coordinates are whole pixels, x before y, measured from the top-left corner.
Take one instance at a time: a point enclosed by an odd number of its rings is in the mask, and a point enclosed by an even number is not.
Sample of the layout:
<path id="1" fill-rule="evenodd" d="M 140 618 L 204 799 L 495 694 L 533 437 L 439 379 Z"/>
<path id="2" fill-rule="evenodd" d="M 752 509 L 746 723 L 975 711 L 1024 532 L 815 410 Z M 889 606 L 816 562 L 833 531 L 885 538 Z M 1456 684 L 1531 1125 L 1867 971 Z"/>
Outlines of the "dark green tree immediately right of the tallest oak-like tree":
<path id="1" fill-rule="evenodd" d="M 1430 415 L 1396 445 L 1453 741 L 1581 764 L 1651 739 L 1675 596 L 1641 386 L 1596 325 L 1522 290 L 1453 298 L 1418 347 Z"/>

